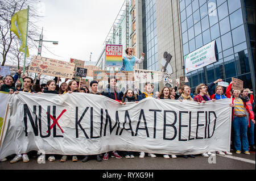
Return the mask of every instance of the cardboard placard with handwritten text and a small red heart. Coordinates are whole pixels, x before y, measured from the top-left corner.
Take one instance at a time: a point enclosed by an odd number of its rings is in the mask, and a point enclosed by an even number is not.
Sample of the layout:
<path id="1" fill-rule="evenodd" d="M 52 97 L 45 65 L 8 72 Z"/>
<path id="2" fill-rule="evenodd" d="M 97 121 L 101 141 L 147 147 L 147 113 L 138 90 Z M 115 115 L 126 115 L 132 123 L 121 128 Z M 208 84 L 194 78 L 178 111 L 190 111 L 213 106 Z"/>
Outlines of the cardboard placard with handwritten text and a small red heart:
<path id="1" fill-rule="evenodd" d="M 30 66 L 28 67 L 28 71 L 53 77 L 72 79 L 74 68 L 75 64 L 71 62 L 34 56 Z"/>

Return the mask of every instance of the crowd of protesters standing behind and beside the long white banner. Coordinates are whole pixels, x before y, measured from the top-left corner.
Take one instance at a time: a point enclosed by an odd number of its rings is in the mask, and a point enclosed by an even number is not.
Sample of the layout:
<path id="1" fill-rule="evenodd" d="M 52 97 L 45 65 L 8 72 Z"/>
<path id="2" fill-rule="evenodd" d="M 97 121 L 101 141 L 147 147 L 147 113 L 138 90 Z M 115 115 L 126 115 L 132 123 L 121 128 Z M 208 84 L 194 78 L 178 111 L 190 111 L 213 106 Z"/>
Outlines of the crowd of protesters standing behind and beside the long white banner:
<path id="1" fill-rule="evenodd" d="M 254 98 L 253 92 L 249 89 L 232 89 L 232 85 L 234 82 L 230 82 L 229 86 L 226 87 L 226 91 L 224 94 L 224 87 L 217 86 L 218 82 L 221 82 L 222 79 L 218 79 L 209 85 L 205 85 L 204 83 L 200 83 L 196 87 L 196 94 L 193 95 L 191 92 L 191 87 L 188 85 L 177 87 L 178 83 L 176 82 L 176 86 L 174 88 L 163 87 L 162 90 L 154 92 L 154 85 L 150 82 L 146 83 L 144 86 L 144 91 L 135 91 L 133 89 L 118 89 L 117 87 L 117 79 L 115 77 L 109 77 L 108 85 L 102 91 L 98 91 L 98 82 L 91 81 L 90 89 L 86 85 L 82 85 L 79 89 L 78 83 L 72 79 L 68 83 L 66 79 L 65 82 L 62 82 L 60 85 L 60 78 L 55 77 L 53 80 L 47 81 L 47 83 L 42 83 L 40 85 L 40 74 L 34 81 L 31 77 L 22 76 L 22 83 L 19 81 L 19 77 L 21 74 L 21 69 L 17 71 L 14 76 L 6 75 L 5 78 L 0 78 L 0 91 L 9 92 L 10 94 L 18 94 L 19 91 L 38 93 L 38 94 L 71 94 L 72 92 L 81 92 L 81 93 L 89 93 L 89 94 L 97 94 L 104 95 L 110 99 L 114 99 L 119 104 L 126 104 L 126 102 L 134 102 L 138 103 L 140 100 L 151 97 L 156 99 L 170 99 L 170 100 L 180 100 L 180 102 L 184 100 L 194 101 L 199 104 L 204 104 L 207 101 L 214 101 L 219 99 L 232 98 L 232 104 L 230 107 L 233 108 L 232 111 L 232 148 L 236 150 L 236 154 L 240 154 L 242 151 L 244 154 L 250 154 L 250 151 L 255 151 L 254 145 Z M 35 83 L 34 83 L 35 82 Z M 214 90 L 214 86 L 216 86 Z M 33 89 L 34 87 L 34 89 Z M 250 94 L 249 94 L 250 92 Z M 147 153 L 149 157 L 156 157 L 154 153 Z M 209 155 L 214 155 L 216 153 L 203 153 L 201 154 L 203 157 L 209 157 Z M 217 154 L 225 155 L 232 153 L 229 151 L 217 151 Z M 134 158 L 135 153 L 132 151 L 117 151 L 113 150 L 110 153 L 104 153 L 94 155 L 97 161 L 108 160 L 109 155 L 115 158 Z M 139 158 L 144 158 L 146 153 L 141 151 L 139 153 Z M 77 156 L 71 155 L 72 161 L 76 162 Z M 93 155 L 84 155 L 82 162 L 87 162 L 90 157 Z M 170 158 L 169 155 L 163 155 L 164 158 Z M 195 155 L 182 155 L 184 158 L 195 158 Z M 68 155 L 62 155 L 60 161 L 67 161 Z M 171 158 L 177 158 L 176 155 L 171 155 Z M 38 157 L 38 162 L 44 162 L 46 159 L 45 155 L 40 155 Z M 7 159 L 3 159 L 2 161 L 6 161 Z M 13 159 L 11 159 L 10 163 L 15 163 L 20 160 L 23 162 L 29 162 L 30 159 L 28 155 L 25 153 L 23 155 L 18 154 Z M 49 161 L 55 161 L 55 155 L 49 155 Z"/>

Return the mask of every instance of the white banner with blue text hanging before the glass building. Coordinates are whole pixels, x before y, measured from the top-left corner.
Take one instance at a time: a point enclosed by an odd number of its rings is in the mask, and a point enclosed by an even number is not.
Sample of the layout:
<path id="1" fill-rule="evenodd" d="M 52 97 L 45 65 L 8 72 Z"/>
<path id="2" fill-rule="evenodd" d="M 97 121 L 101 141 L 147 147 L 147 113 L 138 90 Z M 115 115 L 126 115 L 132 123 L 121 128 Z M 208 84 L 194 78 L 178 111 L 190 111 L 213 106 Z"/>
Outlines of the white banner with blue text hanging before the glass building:
<path id="1" fill-rule="evenodd" d="M 184 61 L 186 74 L 216 62 L 215 40 L 193 51 L 192 53 L 189 53 L 184 57 Z"/>

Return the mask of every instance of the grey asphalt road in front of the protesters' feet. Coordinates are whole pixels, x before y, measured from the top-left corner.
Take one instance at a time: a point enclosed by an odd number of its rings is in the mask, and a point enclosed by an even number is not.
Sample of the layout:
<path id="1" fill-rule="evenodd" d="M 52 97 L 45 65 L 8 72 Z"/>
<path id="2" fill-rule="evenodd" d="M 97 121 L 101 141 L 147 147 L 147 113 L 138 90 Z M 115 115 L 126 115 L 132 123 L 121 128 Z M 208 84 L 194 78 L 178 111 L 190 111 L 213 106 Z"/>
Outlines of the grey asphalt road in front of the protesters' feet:
<path id="1" fill-rule="evenodd" d="M 48 156 L 47 156 L 48 157 Z M 57 155 L 56 161 L 39 164 L 36 157 L 30 157 L 30 162 L 10 163 L 8 161 L 0 162 L 0 170 L 255 170 L 255 152 L 250 155 L 233 153 L 232 158 L 228 155 L 216 155 L 214 158 L 206 158 L 196 155 L 196 158 L 183 158 L 178 156 L 176 159 L 165 159 L 162 155 L 156 158 L 109 158 L 108 161 L 97 162 L 92 158 L 88 162 L 82 162 L 82 156 L 79 156 L 78 162 L 72 162 L 69 157 L 67 162 L 60 162 L 60 155 Z M 242 159 L 242 160 L 238 160 Z M 245 159 L 245 160 L 244 160 Z M 250 162 L 247 162 L 249 160 Z M 212 162 L 209 163 L 208 161 Z M 252 162 L 252 163 L 251 163 Z"/>

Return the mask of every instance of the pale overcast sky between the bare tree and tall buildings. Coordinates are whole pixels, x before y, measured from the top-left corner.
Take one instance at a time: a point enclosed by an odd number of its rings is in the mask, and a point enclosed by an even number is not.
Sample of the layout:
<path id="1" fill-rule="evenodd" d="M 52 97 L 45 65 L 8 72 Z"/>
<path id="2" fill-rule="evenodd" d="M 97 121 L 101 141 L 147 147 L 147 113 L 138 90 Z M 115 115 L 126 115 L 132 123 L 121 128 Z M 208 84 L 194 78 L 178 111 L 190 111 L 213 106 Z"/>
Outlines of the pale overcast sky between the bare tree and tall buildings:
<path id="1" fill-rule="evenodd" d="M 42 0 L 38 12 L 44 18 L 38 26 L 43 27 L 43 40 L 59 41 L 59 45 L 43 43 L 56 56 L 44 47 L 42 56 L 89 61 L 92 52 L 96 61 L 122 4 L 123 0 Z M 37 49 L 30 52 L 34 56 Z"/>

